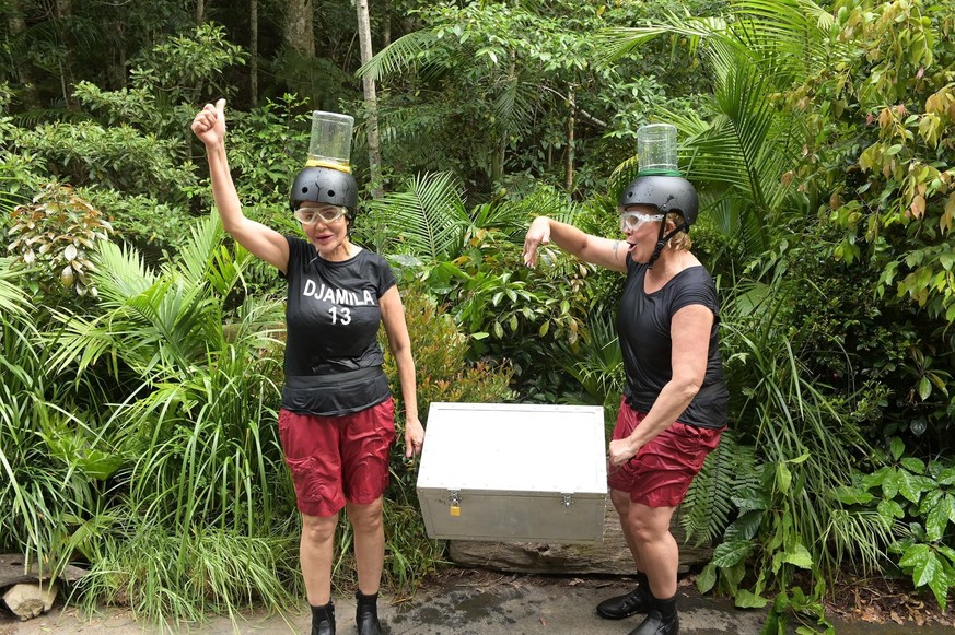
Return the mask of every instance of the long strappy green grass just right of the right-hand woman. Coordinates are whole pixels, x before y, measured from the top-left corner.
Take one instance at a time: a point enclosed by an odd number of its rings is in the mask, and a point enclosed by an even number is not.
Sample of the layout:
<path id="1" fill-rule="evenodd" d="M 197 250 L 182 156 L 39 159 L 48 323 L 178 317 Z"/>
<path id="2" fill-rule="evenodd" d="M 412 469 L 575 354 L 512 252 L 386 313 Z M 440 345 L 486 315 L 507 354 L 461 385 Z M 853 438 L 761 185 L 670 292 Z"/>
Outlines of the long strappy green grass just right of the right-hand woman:
<path id="1" fill-rule="evenodd" d="M 789 531 L 805 543 L 814 566 L 832 573 L 857 560 L 871 565 L 886 544 L 884 522 L 843 508 L 831 494 L 874 452 L 859 430 L 853 396 L 811 369 L 813 351 L 790 328 L 791 293 L 780 277 L 727 294 L 722 328 L 732 425 L 758 462 L 791 473 L 791 487 L 766 494 L 785 499 Z"/>

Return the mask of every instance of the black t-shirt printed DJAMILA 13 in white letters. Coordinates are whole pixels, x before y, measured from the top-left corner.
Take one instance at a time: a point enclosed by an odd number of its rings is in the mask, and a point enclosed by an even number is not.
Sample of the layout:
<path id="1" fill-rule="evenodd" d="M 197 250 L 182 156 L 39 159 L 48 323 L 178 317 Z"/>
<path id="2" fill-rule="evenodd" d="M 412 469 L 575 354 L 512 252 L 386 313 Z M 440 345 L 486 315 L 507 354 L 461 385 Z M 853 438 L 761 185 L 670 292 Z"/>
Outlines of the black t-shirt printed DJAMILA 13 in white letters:
<path id="1" fill-rule="evenodd" d="M 391 396 L 377 343 L 378 302 L 395 275 L 384 258 L 362 249 L 342 262 L 323 260 L 307 240 L 286 236 L 286 385 L 282 407 L 338 415 Z"/>

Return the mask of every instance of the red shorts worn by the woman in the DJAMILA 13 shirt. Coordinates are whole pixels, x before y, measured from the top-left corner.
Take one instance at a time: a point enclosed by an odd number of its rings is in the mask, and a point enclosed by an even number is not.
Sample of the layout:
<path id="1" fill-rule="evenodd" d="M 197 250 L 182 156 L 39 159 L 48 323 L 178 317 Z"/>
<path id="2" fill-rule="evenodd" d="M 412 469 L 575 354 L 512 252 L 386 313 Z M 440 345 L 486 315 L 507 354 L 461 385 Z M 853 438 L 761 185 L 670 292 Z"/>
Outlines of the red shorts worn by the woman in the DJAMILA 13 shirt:
<path id="1" fill-rule="evenodd" d="M 346 501 L 374 503 L 388 486 L 395 439 L 395 401 L 350 414 L 319 416 L 279 411 L 279 437 L 295 483 L 299 511 L 333 516 Z"/>

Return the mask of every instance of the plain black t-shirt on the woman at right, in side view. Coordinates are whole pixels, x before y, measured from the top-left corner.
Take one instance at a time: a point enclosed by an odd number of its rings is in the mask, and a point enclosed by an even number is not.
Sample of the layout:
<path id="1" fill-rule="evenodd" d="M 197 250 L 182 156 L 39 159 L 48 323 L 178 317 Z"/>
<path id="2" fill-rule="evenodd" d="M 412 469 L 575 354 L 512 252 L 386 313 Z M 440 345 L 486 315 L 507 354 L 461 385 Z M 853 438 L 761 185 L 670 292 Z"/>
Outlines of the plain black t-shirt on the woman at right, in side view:
<path id="1" fill-rule="evenodd" d="M 626 397 L 637 411 L 650 411 L 673 376 L 673 316 L 685 306 L 700 304 L 713 311 L 707 373 L 699 392 L 677 421 L 699 427 L 724 426 L 730 392 L 723 380 L 718 336 L 720 305 L 713 279 L 702 267 L 690 267 L 673 277 L 663 289 L 645 293 L 645 264 L 627 259 L 627 283 L 617 313 L 617 334 L 627 375 Z"/>

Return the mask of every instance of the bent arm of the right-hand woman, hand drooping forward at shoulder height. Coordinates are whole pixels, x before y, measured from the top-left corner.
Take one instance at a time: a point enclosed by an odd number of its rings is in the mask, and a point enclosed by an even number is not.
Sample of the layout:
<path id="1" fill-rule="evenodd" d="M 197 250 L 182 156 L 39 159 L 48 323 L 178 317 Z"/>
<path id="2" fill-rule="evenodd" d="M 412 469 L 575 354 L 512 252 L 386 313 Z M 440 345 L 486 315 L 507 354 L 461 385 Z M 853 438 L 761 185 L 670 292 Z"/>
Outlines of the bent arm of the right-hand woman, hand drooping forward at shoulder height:
<path id="1" fill-rule="evenodd" d="M 547 216 L 537 216 L 527 230 L 524 238 L 524 263 L 534 267 L 537 263 L 537 249 L 540 245 L 554 242 L 564 251 L 570 251 L 581 260 L 613 269 L 627 271 L 627 255 L 629 245 L 626 240 L 612 240 L 585 234 L 567 223 L 561 223 Z"/>

